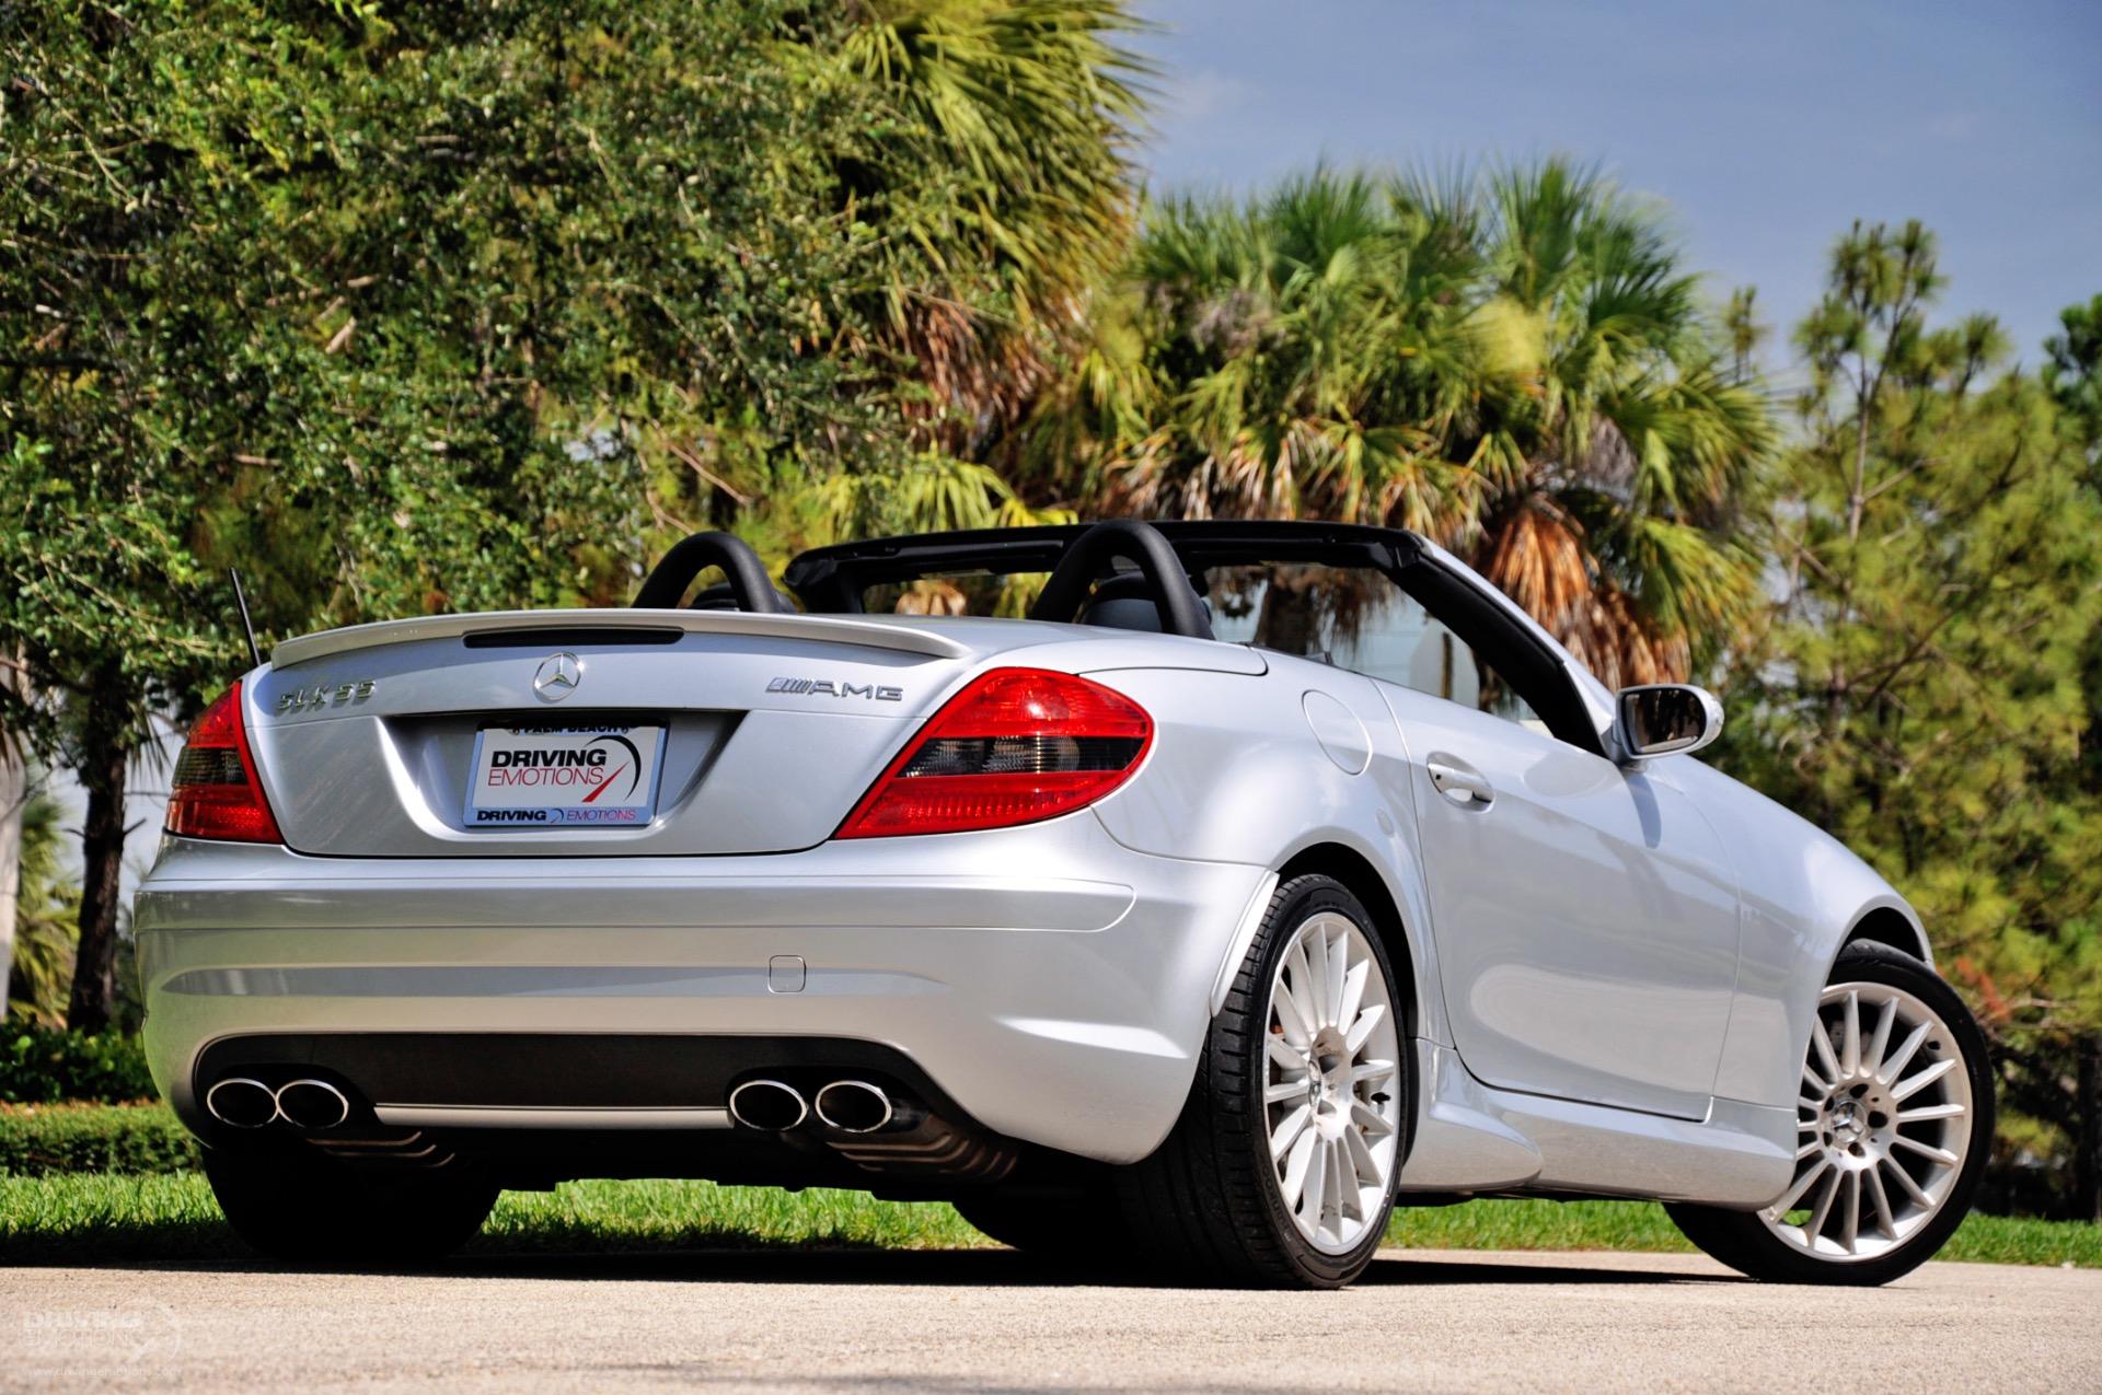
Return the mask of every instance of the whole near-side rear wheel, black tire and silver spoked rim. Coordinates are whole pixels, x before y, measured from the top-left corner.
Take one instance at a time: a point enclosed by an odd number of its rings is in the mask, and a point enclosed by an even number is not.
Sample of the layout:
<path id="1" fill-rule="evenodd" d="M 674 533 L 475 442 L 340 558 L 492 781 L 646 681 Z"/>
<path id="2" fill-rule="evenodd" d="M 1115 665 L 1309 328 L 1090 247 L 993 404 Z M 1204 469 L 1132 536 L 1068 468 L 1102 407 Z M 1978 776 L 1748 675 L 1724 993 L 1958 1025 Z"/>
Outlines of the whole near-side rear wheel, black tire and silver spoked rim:
<path id="1" fill-rule="evenodd" d="M 1278 887 L 1167 1143 L 1118 1174 L 1127 1233 L 1230 1284 L 1337 1288 L 1394 1208 L 1406 1088 L 1394 971 L 1358 897 Z"/>

